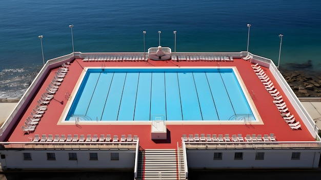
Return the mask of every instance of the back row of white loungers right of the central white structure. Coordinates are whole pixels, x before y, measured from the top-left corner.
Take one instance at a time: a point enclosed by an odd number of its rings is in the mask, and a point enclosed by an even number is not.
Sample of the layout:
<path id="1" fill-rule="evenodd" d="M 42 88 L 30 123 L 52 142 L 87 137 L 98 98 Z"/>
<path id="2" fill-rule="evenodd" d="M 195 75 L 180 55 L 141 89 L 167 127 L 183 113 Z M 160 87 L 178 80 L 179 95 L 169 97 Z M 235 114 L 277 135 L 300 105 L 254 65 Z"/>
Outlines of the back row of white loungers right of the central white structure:
<path id="1" fill-rule="evenodd" d="M 233 62 L 232 56 L 172 56 L 173 61 L 226 61 Z"/>

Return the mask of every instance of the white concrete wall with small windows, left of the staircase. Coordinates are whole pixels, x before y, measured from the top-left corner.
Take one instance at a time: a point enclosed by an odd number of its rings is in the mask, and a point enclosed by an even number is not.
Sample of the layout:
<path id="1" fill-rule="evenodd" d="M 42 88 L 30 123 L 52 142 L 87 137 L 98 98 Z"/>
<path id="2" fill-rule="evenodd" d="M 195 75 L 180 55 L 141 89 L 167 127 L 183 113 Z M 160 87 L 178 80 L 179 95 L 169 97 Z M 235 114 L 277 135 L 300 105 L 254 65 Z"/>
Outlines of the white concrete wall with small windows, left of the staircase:
<path id="1" fill-rule="evenodd" d="M 24 160 L 23 153 L 31 153 L 32 160 Z M 47 160 L 47 153 L 55 153 L 55 160 Z M 97 153 L 97 160 L 90 160 L 90 152 Z M 119 153 L 119 160 L 111 160 L 111 152 Z M 69 160 L 68 153 L 77 153 L 77 160 Z M 46 169 L 46 168 L 100 168 L 100 169 L 130 169 L 134 168 L 135 151 L 117 151 L 117 150 L 47 150 L 47 151 L 2 151 L 5 154 L 5 159 L 0 159 L 1 165 L 4 168 L 12 169 Z"/>

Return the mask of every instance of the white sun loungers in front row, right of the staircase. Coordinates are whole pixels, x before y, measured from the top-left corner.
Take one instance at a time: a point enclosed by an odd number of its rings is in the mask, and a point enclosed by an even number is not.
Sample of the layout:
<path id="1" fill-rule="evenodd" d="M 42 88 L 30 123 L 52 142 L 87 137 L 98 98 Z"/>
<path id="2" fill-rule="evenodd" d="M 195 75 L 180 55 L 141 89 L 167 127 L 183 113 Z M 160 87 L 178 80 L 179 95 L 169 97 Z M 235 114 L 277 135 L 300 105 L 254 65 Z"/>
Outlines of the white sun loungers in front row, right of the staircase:
<path id="1" fill-rule="evenodd" d="M 247 134 L 245 137 L 242 134 L 233 134 L 231 137 L 229 134 L 189 134 L 188 137 L 186 134 L 183 134 L 181 137 L 184 142 L 274 142 L 276 138 L 274 133 L 269 134 Z"/>

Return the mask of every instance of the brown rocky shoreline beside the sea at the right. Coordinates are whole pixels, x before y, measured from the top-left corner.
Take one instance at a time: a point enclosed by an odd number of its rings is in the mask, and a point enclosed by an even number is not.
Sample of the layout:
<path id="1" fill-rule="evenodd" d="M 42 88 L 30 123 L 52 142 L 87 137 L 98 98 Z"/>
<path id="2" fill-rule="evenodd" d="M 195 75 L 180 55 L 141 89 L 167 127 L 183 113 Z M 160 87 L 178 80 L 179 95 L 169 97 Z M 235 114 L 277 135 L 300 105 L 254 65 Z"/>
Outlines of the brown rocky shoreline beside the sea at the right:
<path id="1" fill-rule="evenodd" d="M 297 97 L 321 96 L 321 73 L 297 70 L 279 69 Z"/>

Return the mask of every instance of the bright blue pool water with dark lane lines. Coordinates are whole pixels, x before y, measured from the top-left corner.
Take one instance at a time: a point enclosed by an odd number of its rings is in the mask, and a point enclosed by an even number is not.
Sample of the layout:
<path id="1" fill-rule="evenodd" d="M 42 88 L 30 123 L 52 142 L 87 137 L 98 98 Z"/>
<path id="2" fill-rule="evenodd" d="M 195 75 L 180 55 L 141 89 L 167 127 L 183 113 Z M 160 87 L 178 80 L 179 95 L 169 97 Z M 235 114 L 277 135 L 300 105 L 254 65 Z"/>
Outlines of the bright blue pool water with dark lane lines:
<path id="1" fill-rule="evenodd" d="M 233 69 L 89 69 L 66 121 L 253 118 Z"/>

